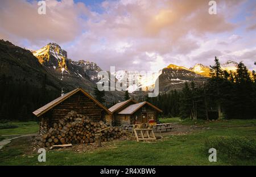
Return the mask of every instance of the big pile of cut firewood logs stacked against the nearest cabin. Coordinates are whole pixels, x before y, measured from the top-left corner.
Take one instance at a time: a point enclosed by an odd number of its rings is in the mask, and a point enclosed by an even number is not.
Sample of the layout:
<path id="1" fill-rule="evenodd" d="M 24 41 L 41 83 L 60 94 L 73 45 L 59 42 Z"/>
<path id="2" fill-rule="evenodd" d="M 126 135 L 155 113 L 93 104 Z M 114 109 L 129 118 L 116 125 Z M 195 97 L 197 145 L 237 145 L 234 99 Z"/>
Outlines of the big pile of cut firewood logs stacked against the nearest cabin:
<path id="1" fill-rule="evenodd" d="M 92 122 L 88 116 L 71 111 L 54 123 L 46 134 L 36 138 L 41 147 L 49 147 L 61 144 L 90 144 L 95 141 L 95 135 L 101 137 L 101 141 L 110 141 L 121 137 L 122 129 L 108 127 L 103 121 Z"/>

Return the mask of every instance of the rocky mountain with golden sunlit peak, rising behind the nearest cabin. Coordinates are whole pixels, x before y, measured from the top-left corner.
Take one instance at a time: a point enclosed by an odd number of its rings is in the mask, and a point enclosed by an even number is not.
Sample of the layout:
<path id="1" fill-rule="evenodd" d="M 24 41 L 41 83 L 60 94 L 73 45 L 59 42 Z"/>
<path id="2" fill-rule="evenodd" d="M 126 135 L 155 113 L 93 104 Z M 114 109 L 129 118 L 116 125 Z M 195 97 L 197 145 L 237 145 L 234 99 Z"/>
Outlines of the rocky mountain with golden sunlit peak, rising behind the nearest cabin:
<path id="1" fill-rule="evenodd" d="M 56 43 L 49 43 L 32 53 L 47 71 L 57 77 L 61 82 L 72 85 L 73 88 L 81 87 L 93 95 L 94 87 L 100 80 L 98 72 L 101 68 L 90 61 L 73 61 L 68 58 L 68 53 Z M 122 100 L 123 92 L 106 92 L 106 100 Z"/>

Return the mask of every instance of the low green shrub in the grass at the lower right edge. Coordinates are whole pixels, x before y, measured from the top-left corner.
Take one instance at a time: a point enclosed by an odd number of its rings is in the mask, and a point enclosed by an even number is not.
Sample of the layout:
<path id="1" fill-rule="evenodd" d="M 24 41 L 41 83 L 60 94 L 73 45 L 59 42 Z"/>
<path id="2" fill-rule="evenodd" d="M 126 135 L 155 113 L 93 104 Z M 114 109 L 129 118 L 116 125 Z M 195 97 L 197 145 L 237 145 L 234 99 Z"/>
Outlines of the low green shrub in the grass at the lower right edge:
<path id="1" fill-rule="evenodd" d="M 256 139 L 239 136 L 212 136 L 205 141 L 205 149 L 215 148 L 221 157 L 254 159 L 256 157 Z"/>

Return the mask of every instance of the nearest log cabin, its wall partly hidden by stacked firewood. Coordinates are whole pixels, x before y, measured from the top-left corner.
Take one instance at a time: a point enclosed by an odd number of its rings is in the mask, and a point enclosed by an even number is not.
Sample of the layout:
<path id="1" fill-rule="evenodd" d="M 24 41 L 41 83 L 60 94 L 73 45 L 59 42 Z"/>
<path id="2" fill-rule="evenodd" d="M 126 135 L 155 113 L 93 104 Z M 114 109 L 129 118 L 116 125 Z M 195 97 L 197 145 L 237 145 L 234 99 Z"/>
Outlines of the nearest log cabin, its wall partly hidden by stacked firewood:
<path id="1" fill-rule="evenodd" d="M 112 112 L 108 108 L 82 88 L 76 88 L 33 112 L 40 119 L 39 134 L 46 133 L 72 110 L 89 116 L 94 122 L 102 120 L 108 123 L 112 120 Z"/>

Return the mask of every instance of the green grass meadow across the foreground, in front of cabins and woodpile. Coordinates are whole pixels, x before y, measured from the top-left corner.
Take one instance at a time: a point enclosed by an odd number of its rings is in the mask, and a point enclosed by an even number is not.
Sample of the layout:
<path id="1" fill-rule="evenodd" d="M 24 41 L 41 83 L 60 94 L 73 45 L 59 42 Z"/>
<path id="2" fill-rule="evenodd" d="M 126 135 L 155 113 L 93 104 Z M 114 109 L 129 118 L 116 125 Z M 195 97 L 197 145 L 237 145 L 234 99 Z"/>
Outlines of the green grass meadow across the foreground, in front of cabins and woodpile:
<path id="1" fill-rule="evenodd" d="M 256 120 L 210 122 L 200 125 L 205 129 L 181 136 L 169 135 L 151 142 L 114 141 L 117 148 L 102 147 L 83 153 L 49 150 L 44 163 L 38 162 L 36 151 L 28 150 L 28 141 L 18 138 L 0 150 L 0 165 L 256 165 L 256 159 L 227 159 L 218 153 L 217 162 L 209 162 L 204 149 L 210 136 L 255 137 L 255 123 Z"/>

